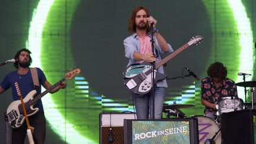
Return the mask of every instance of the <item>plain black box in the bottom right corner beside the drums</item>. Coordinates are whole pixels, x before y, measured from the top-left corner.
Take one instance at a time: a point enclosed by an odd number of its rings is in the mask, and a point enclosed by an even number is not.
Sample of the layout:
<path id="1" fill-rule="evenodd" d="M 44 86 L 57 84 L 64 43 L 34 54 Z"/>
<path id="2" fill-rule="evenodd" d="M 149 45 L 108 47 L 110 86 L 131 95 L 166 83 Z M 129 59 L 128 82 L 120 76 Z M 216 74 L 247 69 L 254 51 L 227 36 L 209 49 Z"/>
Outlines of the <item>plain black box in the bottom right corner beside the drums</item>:
<path id="1" fill-rule="evenodd" d="M 221 115 L 223 143 L 255 143 L 256 110 L 239 110 Z M 255 131 L 254 131 L 255 130 Z"/>

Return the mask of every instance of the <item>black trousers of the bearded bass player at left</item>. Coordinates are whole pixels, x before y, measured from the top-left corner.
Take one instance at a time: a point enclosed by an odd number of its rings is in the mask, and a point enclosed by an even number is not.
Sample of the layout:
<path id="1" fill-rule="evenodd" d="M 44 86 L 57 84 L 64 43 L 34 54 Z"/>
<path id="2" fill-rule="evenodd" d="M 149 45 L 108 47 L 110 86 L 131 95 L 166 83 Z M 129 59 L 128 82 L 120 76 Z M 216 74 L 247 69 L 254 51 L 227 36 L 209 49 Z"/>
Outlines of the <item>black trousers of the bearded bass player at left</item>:
<path id="1" fill-rule="evenodd" d="M 34 142 L 43 144 L 46 136 L 46 120 L 43 112 L 38 112 L 33 116 L 28 117 L 30 126 L 34 127 Z M 12 143 L 23 144 L 27 135 L 27 124 L 23 123 L 19 129 L 12 129 Z"/>

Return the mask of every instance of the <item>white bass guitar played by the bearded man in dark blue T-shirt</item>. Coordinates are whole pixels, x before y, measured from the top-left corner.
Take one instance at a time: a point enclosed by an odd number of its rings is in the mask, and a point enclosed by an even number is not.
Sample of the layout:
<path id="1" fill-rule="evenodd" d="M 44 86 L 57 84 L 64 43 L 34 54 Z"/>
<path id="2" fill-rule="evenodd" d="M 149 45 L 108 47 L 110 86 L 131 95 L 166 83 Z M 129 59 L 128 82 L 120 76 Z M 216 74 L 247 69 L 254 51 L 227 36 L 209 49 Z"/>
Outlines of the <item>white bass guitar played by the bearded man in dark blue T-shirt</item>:
<path id="1" fill-rule="evenodd" d="M 55 89 L 58 85 L 62 84 L 62 82 L 66 81 L 66 79 L 72 79 L 73 76 L 80 72 L 80 69 L 74 69 L 72 71 L 69 71 L 68 73 L 66 73 L 64 78 L 60 79 L 60 81 L 56 82 L 56 84 L 52 85 L 52 87 L 46 89 L 46 91 L 42 92 L 39 95 L 36 95 L 36 90 L 30 91 L 24 98 L 24 106 L 27 116 L 33 116 L 39 111 L 39 108 L 33 108 L 33 106 L 37 103 L 37 101 L 40 100 L 41 97 L 52 91 L 52 89 Z M 36 97 L 34 97 L 35 95 Z M 7 112 L 5 113 L 5 120 L 7 120 L 9 125 L 14 129 L 17 129 L 22 126 L 22 124 L 24 123 L 24 119 L 25 117 L 21 107 L 21 101 L 13 101 L 11 104 L 9 104 Z"/>

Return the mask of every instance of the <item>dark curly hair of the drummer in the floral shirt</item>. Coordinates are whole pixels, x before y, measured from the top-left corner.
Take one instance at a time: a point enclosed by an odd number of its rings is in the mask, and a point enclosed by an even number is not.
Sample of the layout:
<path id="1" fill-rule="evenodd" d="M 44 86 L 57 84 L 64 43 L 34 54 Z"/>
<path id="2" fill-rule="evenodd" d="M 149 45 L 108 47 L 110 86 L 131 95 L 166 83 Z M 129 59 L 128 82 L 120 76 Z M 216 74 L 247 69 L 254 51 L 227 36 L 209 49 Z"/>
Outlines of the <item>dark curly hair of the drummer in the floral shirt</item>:
<path id="1" fill-rule="evenodd" d="M 226 66 L 223 65 L 223 63 L 215 62 L 209 66 L 207 74 L 212 78 L 225 79 L 228 74 L 228 71 L 226 69 Z"/>

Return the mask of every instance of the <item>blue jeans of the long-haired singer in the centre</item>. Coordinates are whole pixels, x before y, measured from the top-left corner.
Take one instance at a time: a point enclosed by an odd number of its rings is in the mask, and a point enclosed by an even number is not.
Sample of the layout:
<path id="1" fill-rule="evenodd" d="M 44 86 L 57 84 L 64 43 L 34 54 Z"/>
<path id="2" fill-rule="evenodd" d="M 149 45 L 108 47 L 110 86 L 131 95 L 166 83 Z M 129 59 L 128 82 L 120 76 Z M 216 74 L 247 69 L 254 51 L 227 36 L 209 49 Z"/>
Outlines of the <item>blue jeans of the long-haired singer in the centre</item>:
<path id="1" fill-rule="evenodd" d="M 164 96 L 165 88 L 155 88 L 155 119 L 161 119 L 162 117 Z M 137 119 L 152 119 L 152 92 L 142 96 L 132 94 L 132 97 L 133 103 L 135 104 Z"/>

